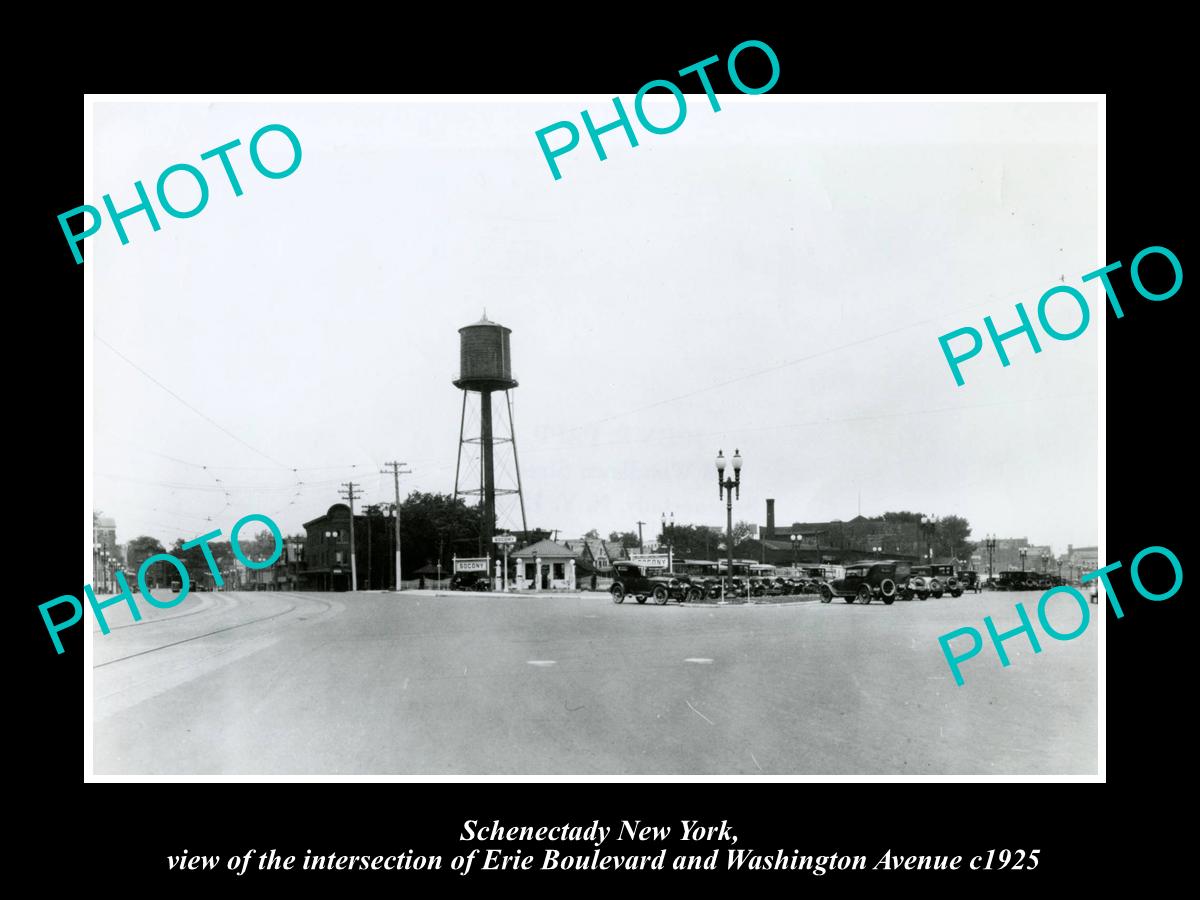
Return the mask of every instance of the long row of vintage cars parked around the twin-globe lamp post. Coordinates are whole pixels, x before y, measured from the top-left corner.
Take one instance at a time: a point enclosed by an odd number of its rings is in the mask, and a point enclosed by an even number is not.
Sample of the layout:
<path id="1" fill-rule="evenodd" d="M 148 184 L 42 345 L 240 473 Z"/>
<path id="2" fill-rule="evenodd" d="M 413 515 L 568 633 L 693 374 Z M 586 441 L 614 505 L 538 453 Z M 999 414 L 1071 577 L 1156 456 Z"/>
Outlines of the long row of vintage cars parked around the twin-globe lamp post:
<path id="1" fill-rule="evenodd" d="M 683 560 L 677 571 L 668 572 L 638 563 L 613 565 L 612 601 L 623 604 L 631 596 L 644 604 L 654 600 L 665 604 L 696 602 L 725 598 L 762 598 L 820 594 L 822 602 L 840 596 L 846 602 L 869 604 L 881 600 L 928 600 L 946 594 L 961 596 L 967 590 L 980 589 L 973 571 L 955 572 L 952 565 L 910 565 L 894 559 L 854 563 L 841 577 L 828 577 L 821 566 L 800 569 L 799 574 L 779 576 L 774 566 L 752 563 L 733 564 L 732 575 L 720 563 Z"/>

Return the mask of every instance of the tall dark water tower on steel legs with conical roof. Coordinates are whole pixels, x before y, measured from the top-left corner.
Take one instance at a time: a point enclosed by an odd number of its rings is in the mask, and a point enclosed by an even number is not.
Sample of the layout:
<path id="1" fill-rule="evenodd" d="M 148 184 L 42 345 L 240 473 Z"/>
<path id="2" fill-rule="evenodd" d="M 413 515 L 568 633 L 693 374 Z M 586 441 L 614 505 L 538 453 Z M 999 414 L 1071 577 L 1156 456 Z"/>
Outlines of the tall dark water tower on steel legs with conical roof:
<path id="1" fill-rule="evenodd" d="M 521 464 L 517 461 L 516 432 L 512 427 L 512 397 L 509 391 L 517 386 L 512 377 L 512 355 L 509 353 L 509 335 L 512 329 L 490 322 L 487 312 L 473 325 L 458 329 L 460 368 L 454 386 L 462 391 L 462 419 L 458 422 L 458 462 L 454 470 L 454 496 L 478 496 L 482 511 L 482 530 L 480 540 L 487 552 L 492 544 L 492 532 L 496 523 L 496 496 L 515 493 L 521 502 L 521 530 L 527 532 L 524 516 L 524 494 L 521 493 Z M 492 394 L 504 391 L 504 402 L 509 413 L 508 437 L 496 437 L 492 430 Z M 479 396 L 479 437 L 467 437 L 467 398 Z M 479 444 L 479 487 L 463 487 L 458 484 L 462 472 L 462 451 L 467 444 Z M 516 472 L 516 487 L 497 487 L 494 473 L 494 445 L 509 444 L 512 448 L 512 467 Z"/>

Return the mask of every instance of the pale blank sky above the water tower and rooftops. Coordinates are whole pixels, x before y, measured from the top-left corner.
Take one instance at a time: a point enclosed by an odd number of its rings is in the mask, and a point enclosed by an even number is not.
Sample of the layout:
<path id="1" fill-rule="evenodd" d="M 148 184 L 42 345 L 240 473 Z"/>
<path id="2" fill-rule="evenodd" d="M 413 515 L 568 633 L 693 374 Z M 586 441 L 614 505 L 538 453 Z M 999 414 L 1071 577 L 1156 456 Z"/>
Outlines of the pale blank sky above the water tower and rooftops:
<path id="1" fill-rule="evenodd" d="M 346 481 L 390 500 L 391 460 L 402 493 L 452 491 L 457 329 L 486 308 L 512 329 L 529 527 L 721 524 L 714 457 L 738 449 L 736 521 L 774 498 L 780 523 L 904 509 L 1094 545 L 1094 106 L 688 101 L 670 134 L 635 120 L 637 148 L 605 134 L 604 162 L 580 110 L 608 121 L 611 97 L 97 103 L 88 203 L 131 206 L 180 162 L 210 197 L 86 240 L 95 509 L 169 545 L 251 512 L 301 532 Z M 583 133 L 554 180 L 534 133 L 564 119 Z M 302 158 L 272 180 L 247 145 L 276 122 Z M 199 158 L 235 138 L 240 197 Z M 290 161 L 277 133 L 260 148 Z M 168 194 L 198 196 L 187 175 Z M 1014 338 L 1008 367 L 985 347 L 954 383 L 940 335 L 1013 328 L 1058 283 L 1091 302 L 1081 337 Z M 512 470 L 499 448 L 499 486 Z"/>

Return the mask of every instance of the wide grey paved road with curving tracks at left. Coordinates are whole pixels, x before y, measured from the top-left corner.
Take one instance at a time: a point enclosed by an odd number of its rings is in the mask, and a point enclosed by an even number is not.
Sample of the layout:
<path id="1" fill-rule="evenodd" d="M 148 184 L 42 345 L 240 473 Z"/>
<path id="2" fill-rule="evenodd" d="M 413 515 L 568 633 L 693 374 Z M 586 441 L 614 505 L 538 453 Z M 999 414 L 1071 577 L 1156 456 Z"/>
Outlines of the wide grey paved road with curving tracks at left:
<path id="1" fill-rule="evenodd" d="M 892 606 L 192 594 L 94 634 L 108 774 L 1062 774 L 1097 768 L 1097 625 L 990 646 L 1038 594 Z M 1074 617 L 1074 618 L 1072 618 Z M 1066 604 L 1061 631 L 1078 624 Z"/>

